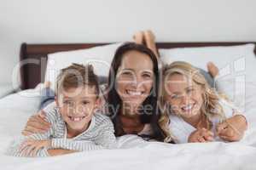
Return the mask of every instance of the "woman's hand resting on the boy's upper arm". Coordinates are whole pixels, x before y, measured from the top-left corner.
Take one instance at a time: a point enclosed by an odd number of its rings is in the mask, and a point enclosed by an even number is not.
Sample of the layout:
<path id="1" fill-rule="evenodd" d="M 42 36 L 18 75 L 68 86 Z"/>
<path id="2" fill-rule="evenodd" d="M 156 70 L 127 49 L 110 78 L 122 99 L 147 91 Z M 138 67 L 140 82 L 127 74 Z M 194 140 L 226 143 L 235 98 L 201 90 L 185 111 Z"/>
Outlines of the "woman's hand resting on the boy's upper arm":
<path id="1" fill-rule="evenodd" d="M 46 133 L 51 124 L 46 121 L 44 111 L 39 111 L 37 115 L 31 116 L 26 122 L 26 127 L 22 131 L 24 136 L 31 135 L 33 133 Z"/>

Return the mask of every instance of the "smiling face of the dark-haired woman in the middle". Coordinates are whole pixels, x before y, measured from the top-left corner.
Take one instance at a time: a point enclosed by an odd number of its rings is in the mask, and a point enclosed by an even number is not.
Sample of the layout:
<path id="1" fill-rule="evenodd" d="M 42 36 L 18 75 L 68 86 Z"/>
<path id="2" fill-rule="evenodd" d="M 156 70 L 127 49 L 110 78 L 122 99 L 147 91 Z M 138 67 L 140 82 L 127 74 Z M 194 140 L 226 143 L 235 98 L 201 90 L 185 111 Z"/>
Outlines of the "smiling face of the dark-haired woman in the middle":
<path id="1" fill-rule="evenodd" d="M 147 54 L 129 51 L 119 66 L 115 88 L 122 102 L 131 108 L 143 104 L 153 87 L 154 66 Z"/>

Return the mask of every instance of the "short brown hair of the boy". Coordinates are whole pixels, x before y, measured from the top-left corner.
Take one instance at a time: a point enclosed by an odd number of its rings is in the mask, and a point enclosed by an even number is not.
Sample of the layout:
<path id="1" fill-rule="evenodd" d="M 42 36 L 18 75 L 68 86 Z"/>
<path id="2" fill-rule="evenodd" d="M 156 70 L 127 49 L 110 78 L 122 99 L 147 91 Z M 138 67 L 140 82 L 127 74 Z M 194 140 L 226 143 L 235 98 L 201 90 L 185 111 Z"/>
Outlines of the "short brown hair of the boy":
<path id="1" fill-rule="evenodd" d="M 93 66 L 73 63 L 64 69 L 61 69 L 61 72 L 57 77 L 55 92 L 58 96 L 63 89 L 79 88 L 85 85 L 95 87 L 96 96 L 98 96 L 99 82 L 98 77 L 93 71 Z"/>

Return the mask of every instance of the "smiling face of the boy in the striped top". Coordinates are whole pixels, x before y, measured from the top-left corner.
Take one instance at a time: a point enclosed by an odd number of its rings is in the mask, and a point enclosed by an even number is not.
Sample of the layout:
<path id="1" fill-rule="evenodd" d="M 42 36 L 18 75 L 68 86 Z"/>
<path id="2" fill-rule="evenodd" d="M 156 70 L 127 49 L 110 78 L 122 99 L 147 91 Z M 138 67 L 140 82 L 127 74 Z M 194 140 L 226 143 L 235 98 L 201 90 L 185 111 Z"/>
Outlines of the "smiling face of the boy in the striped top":
<path id="1" fill-rule="evenodd" d="M 62 90 L 56 98 L 56 104 L 67 127 L 82 133 L 89 127 L 99 99 L 95 87 L 83 86 Z"/>

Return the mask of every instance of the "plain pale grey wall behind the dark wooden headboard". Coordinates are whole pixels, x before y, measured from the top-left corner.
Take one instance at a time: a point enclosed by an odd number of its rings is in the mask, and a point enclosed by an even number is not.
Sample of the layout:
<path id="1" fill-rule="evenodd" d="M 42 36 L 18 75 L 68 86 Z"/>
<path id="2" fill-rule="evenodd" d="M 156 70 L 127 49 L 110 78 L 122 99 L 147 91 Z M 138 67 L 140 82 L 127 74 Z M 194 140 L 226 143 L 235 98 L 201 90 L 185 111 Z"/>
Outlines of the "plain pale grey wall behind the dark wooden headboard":
<path id="1" fill-rule="evenodd" d="M 256 42 L 254 0 L 1 0 L 0 85 L 21 42 L 119 42 L 150 28 L 159 42 Z"/>

